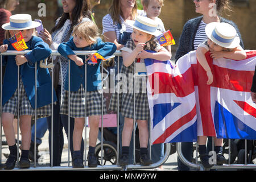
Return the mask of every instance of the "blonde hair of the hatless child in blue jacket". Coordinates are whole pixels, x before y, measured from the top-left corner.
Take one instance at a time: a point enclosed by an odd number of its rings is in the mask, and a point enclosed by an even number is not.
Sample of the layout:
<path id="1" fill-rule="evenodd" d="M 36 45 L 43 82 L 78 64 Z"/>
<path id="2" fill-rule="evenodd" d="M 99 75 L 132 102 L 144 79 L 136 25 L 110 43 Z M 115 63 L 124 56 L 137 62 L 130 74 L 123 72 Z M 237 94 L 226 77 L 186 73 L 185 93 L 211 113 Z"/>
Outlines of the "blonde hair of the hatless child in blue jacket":
<path id="1" fill-rule="evenodd" d="M 97 38 L 100 34 L 95 23 L 82 22 L 74 28 L 72 36 L 74 35 L 80 35 L 86 40 L 86 42 L 93 44 L 97 42 Z"/>

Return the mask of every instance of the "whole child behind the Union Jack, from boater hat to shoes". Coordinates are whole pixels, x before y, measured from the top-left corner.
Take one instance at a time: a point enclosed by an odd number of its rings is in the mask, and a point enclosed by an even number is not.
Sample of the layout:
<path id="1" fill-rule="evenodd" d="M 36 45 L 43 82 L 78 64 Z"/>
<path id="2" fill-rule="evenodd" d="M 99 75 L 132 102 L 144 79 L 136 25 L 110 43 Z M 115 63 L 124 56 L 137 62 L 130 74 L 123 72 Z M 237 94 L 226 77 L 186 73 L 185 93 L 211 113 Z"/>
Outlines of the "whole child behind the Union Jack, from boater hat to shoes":
<path id="1" fill-rule="evenodd" d="M 207 84 L 210 85 L 213 82 L 213 75 L 207 59 L 205 58 L 205 53 L 210 51 L 210 57 L 213 59 L 225 57 L 233 60 L 246 59 L 246 53 L 240 46 L 240 38 L 237 35 L 236 29 L 229 23 L 208 23 L 205 27 L 205 34 L 207 34 L 208 39 L 199 44 L 196 51 L 196 57 L 205 72 L 207 72 Z M 213 164 L 209 163 L 210 156 L 207 154 L 206 140 L 207 136 L 198 137 L 199 157 L 203 166 L 205 168 L 210 168 Z M 222 142 L 222 138 L 214 138 L 214 150 L 217 153 L 217 164 L 228 162 L 222 154 L 222 146 L 219 145 Z"/>

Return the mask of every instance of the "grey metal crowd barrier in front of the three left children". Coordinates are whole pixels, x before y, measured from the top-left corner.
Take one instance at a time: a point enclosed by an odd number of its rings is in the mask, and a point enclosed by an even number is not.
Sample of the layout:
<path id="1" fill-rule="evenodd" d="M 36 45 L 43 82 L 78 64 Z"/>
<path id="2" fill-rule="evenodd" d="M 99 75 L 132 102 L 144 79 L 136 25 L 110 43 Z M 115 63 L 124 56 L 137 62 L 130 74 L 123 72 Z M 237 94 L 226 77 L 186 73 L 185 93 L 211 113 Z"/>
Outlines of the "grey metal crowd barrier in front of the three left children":
<path id="1" fill-rule="evenodd" d="M 5 53 L 1 53 L 1 96 L 0 96 L 0 100 L 1 100 L 1 103 L 2 103 L 2 56 L 5 55 L 24 55 L 26 54 L 27 52 L 30 52 L 30 51 L 7 51 Z M 85 55 L 85 59 L 87 57 L 87 55 L 90 55 L 92 53 L 95 53 L 96 51 L 74 51 L 76 53 L 76 55 Z M 51 53 L 52 56 L 60 56 L 60 53 L 57 52 L 57 51 L 52 51 Z M 122 55 L 120 51 L 116 51 L 114 53 L 115 56 L 118 56 L 118 68 L 119 68 L 119 57 Z M 69 61 L 69 78 L 70 78 L 70 61 Z M 103 62 L 101 62 L 101 73 L 103 73 Z M 86 67 L 87 64 L 85 64 L 85 73 L 86 73 Z M 35 81 L 36 81 L 36 67 L 38 67 L 38 63 L 35 64 Z M 51 112 L 52 112 L 52 115 L 51 115 L 51 119 L 52 119 L 52 122 L 51 122 L 51 159 L 53 159 L 53 69 L 52 68 L 49 68 L 51 69 L 51 72 L 52 72 L 52 104 L 51 104 Z M 135 68 L 134 68 L 135 69 Z M 49 70 L 50 71 L 50 70 Z M 119 73 L 119 69 L 118 69 L 118 73 Z M 101 78 L 103 74 L 101 74 Z M 19 90 L 19 66 L 18 66 L 18 90 Z M 103 80 L 103 79 L 102 79 Z M 36 85 L 36 84 L 35 84 Z M 69 89 L 70 89 L 70 79 L 69 79 Z M 135 84 L 134 84 L 135 86 Z M 36 87 L 36 86 L 35 86 Z M 86 90 L 86 74 L 85 74 L 85 90 Z M 102 88 L 103 90 L 103 88 Z M 134 94 L 135 95 L 135 94 Z M 37 92 L 36 92 L 36 88 L 35 88 L 35 97 L 37 97 Z M 18 100 L 19 100 L 19 94 L 18 94 Z M 85 100 L 86 100 L 86 94 L 85 94 Z M 103 92 L 101 94 L 101 106 L 102 106 L 102 109 L 101 109 L 101 128 L 103 129 Z M 18 103 L 19 104 L 19 103 Z M 134 102 L 135 104 L 135 102 Z M 0 110 L 1 110 L 1 130 L 0 130 L 0 163 L 2 163 L 2 104 L 0 104 Z M 118 108 L 119 108 L 119 93 L 118 93 Z M 36 102 L 35 102 L 35 107 L 36 107 Z M 18 107 L 19 108 L 19 107 Z M 69 106 L 68 106 L 68 109 L 69 109 L 69 113 L 70 113 L 70 98 L 69 98 Z M 135 106 L 134 106 L 134 113 L 135 113 Z M 85 115 L 86 115 L 86 104 L 85 104 Z M 135 119 L 134 119 L 135 120 Z M 151 122 L 150 123 L 150 128 L 151 128 Z M 121 167 L 121 166 L 118 166 L 118 159 L 119 159 L 119 110 L 117 111 L 117 165 L 103 165 L 103 130 L 101 130 L 101 165 L 98 165 L 97 167 L 95 168 L 91 168 L 91 167 L 87 167 L 86 166 L 86 117 L 85 117 L 85 126 L 84 126 L 84 129 L 85 129 L 85 134 L 84 134 L 84 168 L 72 168 L 72 166 L 70 166 L 70 144 L 68 142 L 68 166 L 58 166 L 58 167 L 53 167 L 53 160 L 51 160 L 51 164 L 50 164 L 50 167 L 38 167 L 38 165 L 36 164 L 36 142 L 35 142 L 35 145 L 34 145 L 34 167 L 30 167 L 29 169 L 18 169 L 18 168 L 14 168 L 14 170 L 103 170 L 103 169 L 109 169 L 109 170 L 127 170 L 127 169 L 152 169 L 152 168 L 156 168 L 156 167 L 159 167 L 161 166 L 163 163 L 166 162 L 166 160 L 168 159 L 168 156 L 170 154 L 170 144 L 166 144 L 166 147 L 165 147 L 165 152 L 164 152 L 164 157 L 163 159 L 159 160 L 158 162 L 154 163 L 154 164 L 151 164 L 150 166 L 141 166 L 139 164 L 135 164 L 135 121 L 134 121 L 134 130 L 133 130 L 133 134 L 134 134 L 134 137 L 133 137 L 133 146 L 134 146 L 134 151 L 133 151 L 133 155 L 134 155 L 134 164 L 129 164 L 127 165 L 126 167 Z M 18 110 L 18 122 L 17 122 L 17 134 L 18 134 L 18 142 L 19 143 L 19 110 Z M 70 117 L 68 117 L 68 141 L 70 141 Z M 151 131 L 149 131 L 150 133 L 150 141 L 149 143 L 151 143 Z M 36 109 L 35 109 L 35 141 L 36 141 Z M 19 159 L 19 144 L 17 145 L 17 158 Z M 150 158 L 151 158 L 151 145 L 150 145 Z M 19 160 L 17 160 L 17 163 L 18 163 L 18 167 L 19 167 Z"/>

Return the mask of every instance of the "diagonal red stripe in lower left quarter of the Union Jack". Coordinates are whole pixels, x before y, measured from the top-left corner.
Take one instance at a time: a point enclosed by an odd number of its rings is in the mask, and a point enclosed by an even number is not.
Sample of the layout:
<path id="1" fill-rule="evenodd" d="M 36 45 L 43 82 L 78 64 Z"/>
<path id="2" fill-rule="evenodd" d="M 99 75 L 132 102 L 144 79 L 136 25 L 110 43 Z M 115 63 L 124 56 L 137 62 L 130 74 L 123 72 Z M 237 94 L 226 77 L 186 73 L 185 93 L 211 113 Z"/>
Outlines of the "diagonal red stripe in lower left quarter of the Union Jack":
<path id="1" fill-rule="evenodd" d="M 191 121 L 195 117 L 195 115 L 196 115 L 196 105 L 188 114 L 184 115 L 179 120 L 174 122 L 171 126 L 169 126 L 166 129 L 166 131 L 164 131 L 164 133 L 158 139 L 155 140 L 155 142 L 153 144 L 164 143 L 166 138 L 170 137 L 170 135 L 172 135 L 181 126 L 183 126 L 186 123 L 188 123 L 189 121 Z"/>

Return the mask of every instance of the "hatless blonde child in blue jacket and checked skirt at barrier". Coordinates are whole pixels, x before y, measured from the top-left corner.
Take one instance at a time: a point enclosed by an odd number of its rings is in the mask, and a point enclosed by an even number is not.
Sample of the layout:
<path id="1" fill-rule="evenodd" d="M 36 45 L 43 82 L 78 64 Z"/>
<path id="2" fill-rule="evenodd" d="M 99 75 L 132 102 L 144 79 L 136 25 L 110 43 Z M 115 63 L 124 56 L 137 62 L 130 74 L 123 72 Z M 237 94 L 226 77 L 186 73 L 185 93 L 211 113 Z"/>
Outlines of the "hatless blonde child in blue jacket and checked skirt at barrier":
<path id="1" fill-rule="evenodd" d="M 72 34 L 73 37 L 71 37 L 67 43 L 61 43 L 58 47 L 58 51 L 61 55 L 72 60 L 70 63 L 70 117 L 75 118 L 75 126 L 73 131 L 73 168 L 84 167 L 80 147 L 82 130 L 84 129 L 84 118 L 86 116 L 89 117 L 90 125 L 88 166 L 97 166 L 95 146 L 98 137 L 98 124 L 101 115 L 100 91 L 102 91 L 100 62 L 87 66 L 85 92 L 85 62 L 88 61 L 93 55 L 89 55 L 88 59 L 85 60 L 85 56 L 77 56 L 73 51 L 97 50 L 97 53 L 103 57 L 112 55 L 117 49 L 115 44 L 102 42 L 98 35 L 98 28 L 95 23 L 84 22 L 74 28 Z M 68 74 L 64 89 L 64 99 L 60 113 L 68 114 Z M 85 103 L 87 113 L 86 116 Z M 105 101 L 102 104 L 104 108 L 103 113 L 106 114 Z"/>

